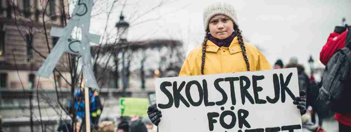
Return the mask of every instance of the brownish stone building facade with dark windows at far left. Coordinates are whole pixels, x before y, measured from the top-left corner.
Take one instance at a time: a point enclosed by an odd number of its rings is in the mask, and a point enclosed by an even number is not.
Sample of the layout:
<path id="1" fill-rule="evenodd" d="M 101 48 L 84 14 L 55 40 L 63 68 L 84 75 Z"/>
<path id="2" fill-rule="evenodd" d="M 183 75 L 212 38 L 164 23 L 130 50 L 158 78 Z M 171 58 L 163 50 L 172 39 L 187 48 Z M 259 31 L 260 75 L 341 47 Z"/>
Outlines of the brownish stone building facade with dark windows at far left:
<path id="1" fill-rule="evenodd" d="M 52 131 L 57 124 L 57 119 L 49 118 L 57 115 L 49 103 L 57 105 L 55 84 L 62 91 L 70 88 L 66 55 L 62 55 L 55 77 L 51 74 L 49 78 L 39 78 L 35 74 L 58 41 L 57 37 L 50 37 L 51 27 L 65 25 L 68 8 L 67 2 L 62 1 L 0 1 L 0 114 L 5 131 L 41 131 L 40 114 L 47 131 Z M 41 92 L 36 93 L 36 88 Z M 68 94 L 65 92 L 60 97 L 67 98 Z M 36 101 L 37 96 L 40 103 Z M 38 111 L 38 104 L 42 113 Z"/>

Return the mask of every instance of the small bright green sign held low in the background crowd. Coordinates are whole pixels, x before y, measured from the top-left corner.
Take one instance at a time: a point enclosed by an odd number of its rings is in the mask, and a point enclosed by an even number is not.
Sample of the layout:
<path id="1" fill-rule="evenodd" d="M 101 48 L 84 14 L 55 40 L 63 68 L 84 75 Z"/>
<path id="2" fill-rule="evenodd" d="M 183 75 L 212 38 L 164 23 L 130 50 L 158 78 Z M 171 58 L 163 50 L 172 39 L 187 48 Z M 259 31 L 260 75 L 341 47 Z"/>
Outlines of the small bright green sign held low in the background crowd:
<path id="1" fill-rule="evenodd" d="M 121 115 L 123 116 L 134 116 L 138 115 L 141 117 L 147 116 L 147 107 L 149 101 L 147 98 L 121 98 L 120 108 Z"/>

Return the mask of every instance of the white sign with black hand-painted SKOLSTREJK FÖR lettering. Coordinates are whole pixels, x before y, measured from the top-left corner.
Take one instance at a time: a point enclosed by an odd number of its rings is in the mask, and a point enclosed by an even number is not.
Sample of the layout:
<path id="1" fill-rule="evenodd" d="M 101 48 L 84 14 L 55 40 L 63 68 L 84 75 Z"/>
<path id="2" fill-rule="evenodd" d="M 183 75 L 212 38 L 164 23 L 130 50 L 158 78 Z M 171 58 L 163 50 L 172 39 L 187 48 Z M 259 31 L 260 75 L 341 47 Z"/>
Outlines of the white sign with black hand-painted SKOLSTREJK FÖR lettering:
<path id="1" fill-rule="evenodd" d="M 302 132 L 296 68 L 155 80 L 159 132 Z"/>

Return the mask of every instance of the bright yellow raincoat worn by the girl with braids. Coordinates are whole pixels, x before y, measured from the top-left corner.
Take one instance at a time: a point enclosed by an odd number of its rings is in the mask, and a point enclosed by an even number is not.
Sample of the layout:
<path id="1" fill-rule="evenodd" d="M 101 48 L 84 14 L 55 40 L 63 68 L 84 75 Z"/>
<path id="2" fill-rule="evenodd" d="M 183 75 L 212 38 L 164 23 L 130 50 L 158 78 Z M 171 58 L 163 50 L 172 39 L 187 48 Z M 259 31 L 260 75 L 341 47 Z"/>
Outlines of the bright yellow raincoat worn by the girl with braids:
<path id="1" fill-rule="evenodd" d="M 250 71 L 271 70 L 272 67 L 264 55 L 249 42 L 244 42 L 246 55 L 249 58 Z M 201 75 L 202 45 L 190 52 L 179 76 Z M 204 74 L 219 74 L 247 71 L 246 63 L 241 53 L 238 37 L 235 37 L 229 47 L 218 47 L 210 40 L 206 43 Z"/>

